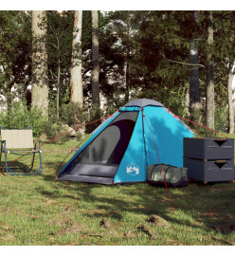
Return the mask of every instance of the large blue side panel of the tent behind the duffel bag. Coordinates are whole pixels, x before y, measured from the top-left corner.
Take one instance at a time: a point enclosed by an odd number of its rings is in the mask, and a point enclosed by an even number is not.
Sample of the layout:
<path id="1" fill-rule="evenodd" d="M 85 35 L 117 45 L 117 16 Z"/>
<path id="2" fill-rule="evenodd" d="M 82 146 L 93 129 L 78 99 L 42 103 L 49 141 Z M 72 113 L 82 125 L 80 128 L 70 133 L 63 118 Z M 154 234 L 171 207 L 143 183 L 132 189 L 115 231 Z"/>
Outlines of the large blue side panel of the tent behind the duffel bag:
<path id="1" fill-rule="evenodd" d="M 183 167 L 183 137 L 193 137 L 190 130 L 164 108 L 144 107 L 144 115 L 152 130 L 161 163 Z M 159 164 L 153 137 L 144 119 L 147 165 Z"/>

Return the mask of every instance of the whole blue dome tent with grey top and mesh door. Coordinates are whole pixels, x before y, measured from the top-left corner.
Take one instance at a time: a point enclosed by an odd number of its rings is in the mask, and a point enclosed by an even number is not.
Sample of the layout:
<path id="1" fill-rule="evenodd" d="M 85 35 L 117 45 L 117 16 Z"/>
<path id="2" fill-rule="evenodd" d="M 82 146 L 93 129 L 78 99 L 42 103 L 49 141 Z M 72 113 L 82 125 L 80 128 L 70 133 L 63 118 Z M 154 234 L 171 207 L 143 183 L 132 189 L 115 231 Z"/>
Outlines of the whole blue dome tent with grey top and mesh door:
<path id="1" fill-rule="evenodd" d="M 183 137 L 193 137 L 190 128 L 160 102 L 130 101 L 99 125 L 57 179 L 100 184 L 144 182 L 146 167 L 159 164 L 159 160 L 183 167 Z"/>

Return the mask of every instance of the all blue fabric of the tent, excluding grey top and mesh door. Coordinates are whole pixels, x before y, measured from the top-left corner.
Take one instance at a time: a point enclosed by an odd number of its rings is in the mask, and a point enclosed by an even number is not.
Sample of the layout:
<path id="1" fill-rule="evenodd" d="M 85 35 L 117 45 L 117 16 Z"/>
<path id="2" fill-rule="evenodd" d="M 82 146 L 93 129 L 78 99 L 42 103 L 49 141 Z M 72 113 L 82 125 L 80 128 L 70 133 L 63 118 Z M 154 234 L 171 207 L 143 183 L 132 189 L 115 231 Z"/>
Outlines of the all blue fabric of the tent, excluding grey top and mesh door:
<path id="1" fill-rule="evenodd" d="M 118 166 L 114 183 L 142 182 L 146 180 L 146 167 L 151 164 L 159 164 L 154 141 L 161 163 L 183 167 L 183 137 L 193 137 L 193 134 L 184 123 L 173 118 L 165 108 L 145 106 L 143 109 L 154 140 L 139 107 L 120 109 L 121 112 L 139 111 L 139 114 L 129 145 Z M 119 114 L 120 112 L 114 114 L 114 118 L 107 120 L 95 130 L 94 134 L 87 139 L 80 150 L 63 167 L 60 174 Z"/>

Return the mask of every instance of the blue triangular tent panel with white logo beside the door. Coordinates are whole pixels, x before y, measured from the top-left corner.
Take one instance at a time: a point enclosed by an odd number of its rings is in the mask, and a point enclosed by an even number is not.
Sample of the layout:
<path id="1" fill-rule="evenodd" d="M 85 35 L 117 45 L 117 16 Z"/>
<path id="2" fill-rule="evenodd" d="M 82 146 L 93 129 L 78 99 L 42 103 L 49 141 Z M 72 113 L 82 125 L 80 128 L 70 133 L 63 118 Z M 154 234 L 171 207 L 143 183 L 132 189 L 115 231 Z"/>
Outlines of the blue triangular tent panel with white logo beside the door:
<path id="1" fill-rule="evenodd" d="M 142 113 L 140 111 L 136 119 L 136 126 L 132 138 L 114 178 L 114 183 L 146 180 L 146 158 L 142 120 Z"/>

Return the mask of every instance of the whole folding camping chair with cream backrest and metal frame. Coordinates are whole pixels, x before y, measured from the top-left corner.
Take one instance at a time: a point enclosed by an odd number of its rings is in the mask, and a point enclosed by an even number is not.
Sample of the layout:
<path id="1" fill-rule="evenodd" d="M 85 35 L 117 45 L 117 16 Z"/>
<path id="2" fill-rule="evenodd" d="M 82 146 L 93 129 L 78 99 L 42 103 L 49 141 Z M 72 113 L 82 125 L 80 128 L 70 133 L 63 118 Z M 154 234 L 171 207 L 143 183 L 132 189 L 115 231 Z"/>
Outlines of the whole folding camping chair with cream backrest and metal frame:
<path id="1" fill-rule="evenodd" d="M 5 167 L 6 172 L 9 175 L 30 175 L 30 174 L 41 174 L 43 171 L 42 166 L 42 156 L 40 149 L 40 141 L 38 147 L 36 143 L 33 147 L 33 137 L 32 137 L 32 127 L 29 129 L 4 129 L 1 127 L 1 152 L 0 152 L 0 165 L 2 153 L 5 155 Z M 30 150 L 29 150 L 30 149 Z M 13 167 L 12 163 L 14 161 L 8 162 L 8 154 L 20 155 L 17 159 L 26 156 L 32 155 L 31 163 L 24 169 L 22 167 Z M 40 158 L 40 167 L 35 171 L 33 170 L 35 155 L 39 154 Z M 2 168 L 1 168 L 2 170 Z"/>

